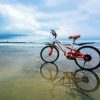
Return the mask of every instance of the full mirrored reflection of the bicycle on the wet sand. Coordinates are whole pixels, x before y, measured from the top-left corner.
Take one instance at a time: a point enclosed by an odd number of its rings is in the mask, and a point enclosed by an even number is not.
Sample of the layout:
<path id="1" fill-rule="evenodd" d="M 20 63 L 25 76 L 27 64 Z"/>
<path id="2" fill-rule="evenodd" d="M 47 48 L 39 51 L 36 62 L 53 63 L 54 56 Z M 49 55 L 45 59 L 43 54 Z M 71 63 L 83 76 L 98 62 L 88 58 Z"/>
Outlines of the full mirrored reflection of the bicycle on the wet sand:
<path id="1" fill-rule="evenodd" d="M 54 63 L 44 63 L 40 68 L 41 76 L 52 84 L 52 96 L 57 86 L 65 87 L 67 95 L 72 97 L 77 96 L 77 93 L 88 96 L 86 92 L 93 92 L 99 88 L 99 77 L 94 71 L 78 69 L 74 72 L 66 71 L 62 76 L 58 73 L 58 67 Z"/>

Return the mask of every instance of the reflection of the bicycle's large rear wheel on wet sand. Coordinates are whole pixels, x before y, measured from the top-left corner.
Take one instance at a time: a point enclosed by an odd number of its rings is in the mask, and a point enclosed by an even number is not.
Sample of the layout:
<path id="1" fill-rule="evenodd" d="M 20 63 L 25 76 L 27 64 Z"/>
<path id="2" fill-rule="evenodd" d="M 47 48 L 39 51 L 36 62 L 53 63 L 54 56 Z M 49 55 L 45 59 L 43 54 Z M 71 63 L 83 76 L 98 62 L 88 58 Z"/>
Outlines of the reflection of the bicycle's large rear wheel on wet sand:
<path id="1" fill-rule="evenodd" d="M 74 72 L 74 77 L 80 78 L 75 79 L 75 85 L 78 89 L 84 92 L 93 92 L 99 88 L 100 79 L 94 71 L 79 69 Z"/>

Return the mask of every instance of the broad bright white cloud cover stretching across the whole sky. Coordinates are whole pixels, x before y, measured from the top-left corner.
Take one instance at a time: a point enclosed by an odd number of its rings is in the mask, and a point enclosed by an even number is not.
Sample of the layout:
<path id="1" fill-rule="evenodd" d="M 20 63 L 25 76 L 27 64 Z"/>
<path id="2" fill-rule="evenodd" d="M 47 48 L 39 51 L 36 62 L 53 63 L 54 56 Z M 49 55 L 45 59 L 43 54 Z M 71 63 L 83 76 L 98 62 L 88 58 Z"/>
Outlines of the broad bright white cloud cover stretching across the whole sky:
<path id="1" fill-rule="evenodd" d="M 63 6 L 72 0 L 44 1 L 48 7 L 60 7 L 60 5 Z M 78 3 L 78 0 L 76 1 Z M 69 35 L 79 33 L 84 36 L 99 36 L 100 29 L 94 29 L 86 22 L 88 20 L 95 21 L 96 16 L 100 17 L 99 4 L 100 1 L 98 0 L 83 0 L 82 3 L 77 5 L 77 9 L 60 12 L 39 11 L 38 6 L 0 4 L 0 13 L 5 15 L 9 20 L 4 30 L 35 33 L 37 34 L 36 37 L 34 36 L 36 40 L 39 40 L 42 36 L 48 36 L 49 29 L 51 28 L 56 29 L 59 36 L 66 36 L 66 38 Z M 93 20 L 91 20 L 91 17 L 93 17 Z M 39 21 L 38 19 L 42 19 L 43 21 Z M 45 29 L 48 29 L 48 32 Z M 26 38 L 32 40 L 31 36 Z"/>

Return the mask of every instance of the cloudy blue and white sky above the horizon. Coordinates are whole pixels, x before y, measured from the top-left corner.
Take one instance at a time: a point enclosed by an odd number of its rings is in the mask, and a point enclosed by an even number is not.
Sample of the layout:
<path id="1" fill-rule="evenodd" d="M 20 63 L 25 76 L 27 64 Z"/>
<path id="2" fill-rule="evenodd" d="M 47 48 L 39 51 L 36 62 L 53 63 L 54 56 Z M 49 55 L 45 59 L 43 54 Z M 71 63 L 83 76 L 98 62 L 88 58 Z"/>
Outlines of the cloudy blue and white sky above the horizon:
<path id="1" fill-rule="evenodd" d="M 0 0 L 0 41 L 43 42 L 80 34 L 100 40 L 100 0 Z"/>

